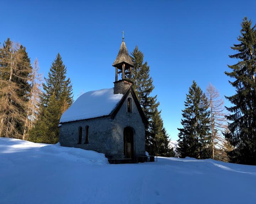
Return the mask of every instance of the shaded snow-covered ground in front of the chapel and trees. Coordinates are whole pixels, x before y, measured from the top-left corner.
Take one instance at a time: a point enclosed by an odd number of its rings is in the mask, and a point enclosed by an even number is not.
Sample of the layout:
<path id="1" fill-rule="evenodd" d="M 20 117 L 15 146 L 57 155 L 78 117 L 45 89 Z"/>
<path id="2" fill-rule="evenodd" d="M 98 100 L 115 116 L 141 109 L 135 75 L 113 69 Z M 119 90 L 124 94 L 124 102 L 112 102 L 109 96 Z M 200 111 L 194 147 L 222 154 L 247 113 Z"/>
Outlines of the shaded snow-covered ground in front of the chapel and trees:
<path id="1" fill-rule="evenodd" d="M 108 164 L 103 154 L 0 138 L 0 204 L 255 204 L 256 166 L 159 158 Z"/>

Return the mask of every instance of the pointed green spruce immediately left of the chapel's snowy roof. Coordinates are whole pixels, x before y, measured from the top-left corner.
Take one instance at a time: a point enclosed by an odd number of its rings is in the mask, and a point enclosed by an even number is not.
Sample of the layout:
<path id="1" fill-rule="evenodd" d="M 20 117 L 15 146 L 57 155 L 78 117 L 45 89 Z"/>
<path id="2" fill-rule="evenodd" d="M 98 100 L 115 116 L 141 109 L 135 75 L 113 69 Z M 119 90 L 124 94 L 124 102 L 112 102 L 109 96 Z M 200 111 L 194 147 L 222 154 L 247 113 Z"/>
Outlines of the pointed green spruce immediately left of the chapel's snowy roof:
<path id="1" fill-rule="evenodd" d="M 45 80 L 46 84 L 43 84 L 44 92 L 41 96 L 41 107 L 39 108 L 39 119 L 30 132 L 30 140 L 41 140 L 41 142 L 50 143 L 57 141 L 52 138 L 56 138 L 58 133 L 58 125 L 53 115 L 57 116 L 59 122 L 62 113 L 73 103 L 72 85 L 70 78 L 66 79 L 66 67 L 59 53 L 52 63 L 48 79 L 45 78 Z M 52 98 L 53 95 L 56 102 Z M 56 108 L 57 106 L 58 108 Z M 48 134 L 42 137 L 44 125 L 49 126 Z"/>

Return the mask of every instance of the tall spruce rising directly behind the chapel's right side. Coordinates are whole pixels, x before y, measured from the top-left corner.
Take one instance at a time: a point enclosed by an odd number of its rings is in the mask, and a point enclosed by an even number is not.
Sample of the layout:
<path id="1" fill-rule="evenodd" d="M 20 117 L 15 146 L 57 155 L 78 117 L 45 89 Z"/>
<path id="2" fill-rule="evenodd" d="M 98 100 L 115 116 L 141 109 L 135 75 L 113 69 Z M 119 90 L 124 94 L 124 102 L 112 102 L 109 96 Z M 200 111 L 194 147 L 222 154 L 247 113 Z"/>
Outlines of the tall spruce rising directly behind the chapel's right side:
<path id="1" fill-rule="evenodd" d="M 146 151 L 151 155 L 156 155 L 158 152 L 157 146 L 163 145 L 159 142 L 168 143 L 168 137 L 164 137 L 162 134 L 163 121 L 161 112 L 158 111 L 157 95 L 151 96 L 155 87 L 153 79 L 149 75 L 150 68 L 148 63 L 143 63 L 144 55 L 138 49 L 138 46 L 135 46 L 131 55 L 134 63 L 132 70 L 133 89 L 148 119 L 148 125 L 145 127 Z M 168 146 L 165 149 L 166 151 L 171 151 Z"/>

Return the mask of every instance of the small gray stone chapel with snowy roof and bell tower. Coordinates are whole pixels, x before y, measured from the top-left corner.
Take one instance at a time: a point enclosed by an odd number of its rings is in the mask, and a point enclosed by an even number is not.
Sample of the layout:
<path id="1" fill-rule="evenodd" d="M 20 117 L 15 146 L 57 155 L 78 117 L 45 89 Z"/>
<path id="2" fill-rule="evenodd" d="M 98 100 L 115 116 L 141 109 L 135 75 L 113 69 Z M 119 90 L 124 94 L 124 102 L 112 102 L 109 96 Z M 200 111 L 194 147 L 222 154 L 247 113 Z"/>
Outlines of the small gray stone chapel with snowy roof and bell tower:
<path id="1" fill-rule="evenodd" d="M 60 145 L 94 150 L 109 159 L 136 160 L 145 156 L 147 120 L 132 88 L 134 65 L 124 38 L 112 66 L 113 88 L 86 92 L 63 113 Z"/>

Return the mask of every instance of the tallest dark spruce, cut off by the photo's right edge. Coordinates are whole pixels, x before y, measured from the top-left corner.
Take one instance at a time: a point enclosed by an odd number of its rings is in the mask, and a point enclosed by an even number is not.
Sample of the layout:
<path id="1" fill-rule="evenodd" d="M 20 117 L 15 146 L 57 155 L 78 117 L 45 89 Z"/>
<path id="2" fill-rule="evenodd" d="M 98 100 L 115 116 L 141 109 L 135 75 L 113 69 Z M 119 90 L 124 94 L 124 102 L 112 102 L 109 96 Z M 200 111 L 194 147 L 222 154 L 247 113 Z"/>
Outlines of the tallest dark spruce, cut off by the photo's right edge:
<path id="1" fill-rule="evenodd" d="M 245 17 L 241 27 L 239 44 L 231 47 L 238 53 L 229 56 L 239 61 L 225 72 L 235 79 L 229 83 L 236 90 L 235 95 L 226 96 L 234 106 L 227 108 L 233 114 L 226 116 L 231 122 L 225 138 L 234 146 L 228 153 L 231 162 L 256 165 L 256 26 Z"/>

